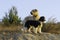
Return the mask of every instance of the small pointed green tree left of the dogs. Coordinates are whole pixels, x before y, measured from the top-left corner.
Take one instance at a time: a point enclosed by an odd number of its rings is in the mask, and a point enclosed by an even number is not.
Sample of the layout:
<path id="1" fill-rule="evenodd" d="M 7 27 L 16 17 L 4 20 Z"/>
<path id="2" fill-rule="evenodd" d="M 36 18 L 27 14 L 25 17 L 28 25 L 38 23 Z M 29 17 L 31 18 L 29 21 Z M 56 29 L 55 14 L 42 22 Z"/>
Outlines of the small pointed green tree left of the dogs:
<path id="1" fill-rule="evenodd" d="M 3 23 L 4 24 L 20 24 L 21 22 L 21 18 L 18 17 L 18 12 L 17 9 L 13 6 L 10 11 L 9 11 L 9 15 L 5 15 L 5 17 L 3 18 Z"/>

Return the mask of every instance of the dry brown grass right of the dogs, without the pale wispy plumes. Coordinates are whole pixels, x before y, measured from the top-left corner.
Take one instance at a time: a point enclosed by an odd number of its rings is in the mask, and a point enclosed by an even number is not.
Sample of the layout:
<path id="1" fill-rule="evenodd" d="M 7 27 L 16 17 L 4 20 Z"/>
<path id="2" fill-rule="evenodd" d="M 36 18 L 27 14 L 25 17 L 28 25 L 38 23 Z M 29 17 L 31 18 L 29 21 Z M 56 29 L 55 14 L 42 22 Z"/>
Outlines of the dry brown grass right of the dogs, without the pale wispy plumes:
<path id="1" fill-rule="evenodd" d="M 42 31 L 49 33 L 60 33 L 60 24 L 45 24 L 42 28 Z"/>

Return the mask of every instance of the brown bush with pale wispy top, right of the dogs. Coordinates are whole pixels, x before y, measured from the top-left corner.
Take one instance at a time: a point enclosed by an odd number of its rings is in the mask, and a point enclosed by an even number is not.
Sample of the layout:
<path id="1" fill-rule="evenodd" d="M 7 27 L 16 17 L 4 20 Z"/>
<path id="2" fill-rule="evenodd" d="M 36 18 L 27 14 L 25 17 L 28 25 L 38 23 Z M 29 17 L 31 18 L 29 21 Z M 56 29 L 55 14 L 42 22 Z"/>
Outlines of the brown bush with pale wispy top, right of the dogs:
<path id="1" fill-rule="evenodd" d="M 49 33 L 60 33 L 60 23 L 57 23 L 55 18 L 51 18 L 44 23 L 42 31 Z"/>

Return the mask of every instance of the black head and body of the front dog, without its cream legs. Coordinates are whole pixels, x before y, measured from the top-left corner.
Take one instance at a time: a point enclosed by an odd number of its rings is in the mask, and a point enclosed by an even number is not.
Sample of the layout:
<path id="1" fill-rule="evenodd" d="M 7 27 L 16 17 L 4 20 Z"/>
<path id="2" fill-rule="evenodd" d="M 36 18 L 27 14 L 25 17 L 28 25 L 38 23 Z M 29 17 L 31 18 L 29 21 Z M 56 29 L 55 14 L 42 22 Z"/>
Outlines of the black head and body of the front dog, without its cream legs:
<path id="1" fill-rule="evenodd" d="M 41 16 L 39 20 L 28 20 L 25 22 L 25 27 L 27 27 L 27 30 L 29 30 L 31 28 L 31 26 L 37 28 L 38 25 L 41 25 L 40 22 L 44 22 L 45 21 L 45 17 Z"/>

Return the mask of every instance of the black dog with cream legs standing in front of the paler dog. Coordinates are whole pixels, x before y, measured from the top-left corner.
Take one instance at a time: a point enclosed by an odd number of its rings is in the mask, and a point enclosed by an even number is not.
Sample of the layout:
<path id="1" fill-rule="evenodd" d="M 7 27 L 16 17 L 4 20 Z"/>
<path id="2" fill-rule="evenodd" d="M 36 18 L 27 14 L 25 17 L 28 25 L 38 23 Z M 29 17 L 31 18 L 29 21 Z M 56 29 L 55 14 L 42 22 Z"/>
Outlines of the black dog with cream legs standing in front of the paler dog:
<path id="1" fill-rule="evenodd" d="M 31 29 L 34 29 L 34 32 L 41 33 L 41 28 L 43 26 L 43 22 L 45 21 L 45 17 L 41 16 L 39 20 L 28 20 L 25 22 L 25 27 L 27 27 L 27 30 L 31 32 Z"/>

